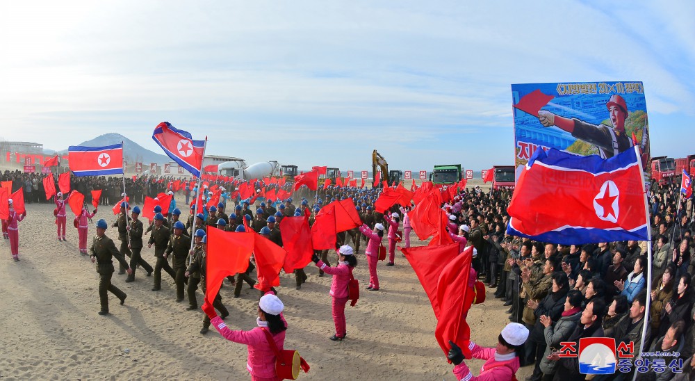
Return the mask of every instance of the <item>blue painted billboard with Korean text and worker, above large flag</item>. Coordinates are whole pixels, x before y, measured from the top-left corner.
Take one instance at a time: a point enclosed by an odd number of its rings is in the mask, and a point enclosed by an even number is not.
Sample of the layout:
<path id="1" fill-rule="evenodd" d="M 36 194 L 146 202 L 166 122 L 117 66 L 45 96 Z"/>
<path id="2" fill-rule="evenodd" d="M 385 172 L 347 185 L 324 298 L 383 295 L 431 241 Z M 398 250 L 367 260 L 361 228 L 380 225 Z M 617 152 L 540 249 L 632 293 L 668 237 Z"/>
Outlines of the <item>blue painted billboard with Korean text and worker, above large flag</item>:
<path id="1" fill-rule="evenodd" d="M 616 156 L 639 145 L 649 168 L 649 130 L 641 82 L 512 85 L 516 179 L 537 149 Z"/>

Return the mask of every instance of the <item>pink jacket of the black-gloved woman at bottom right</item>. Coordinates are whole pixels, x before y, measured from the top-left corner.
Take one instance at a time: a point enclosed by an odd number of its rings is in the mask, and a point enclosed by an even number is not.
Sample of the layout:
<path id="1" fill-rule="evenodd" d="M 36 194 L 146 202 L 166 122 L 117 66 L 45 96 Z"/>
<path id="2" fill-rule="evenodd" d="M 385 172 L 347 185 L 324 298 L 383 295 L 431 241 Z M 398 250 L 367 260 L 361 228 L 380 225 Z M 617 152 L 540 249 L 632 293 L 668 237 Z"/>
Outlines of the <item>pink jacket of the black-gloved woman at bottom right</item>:
<path id="1" fill-rule="evenodd" d="M 518 371 L 519 358 L 514 353 L 512 353 L 514 357 L 507 359 L 507 357 L 510 357 L 509 355 L 496 355 L 493 348 L 482 348 L 473 342 L 468 345 L 468 348 L 471 350 L 473 357 L 487 361 L 480 368 L 480 375 L 477 377 L 471 373 L 465 362 L 461 362 L 461 364 L 454 367 L 454 375 L 457 380 L 509 381 L 512 380 L 512 376 Z M 496 357 L 500 358 L 500 360 L 496 359 Z"/>

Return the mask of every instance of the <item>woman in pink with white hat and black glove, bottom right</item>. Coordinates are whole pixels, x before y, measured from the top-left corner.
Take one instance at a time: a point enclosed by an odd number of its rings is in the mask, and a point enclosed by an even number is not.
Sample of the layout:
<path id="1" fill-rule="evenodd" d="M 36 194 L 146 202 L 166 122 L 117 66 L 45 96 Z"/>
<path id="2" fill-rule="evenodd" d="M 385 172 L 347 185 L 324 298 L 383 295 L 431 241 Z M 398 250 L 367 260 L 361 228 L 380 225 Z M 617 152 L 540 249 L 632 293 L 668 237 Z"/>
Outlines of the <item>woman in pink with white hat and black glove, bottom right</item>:
<path id="1" fill-rule="evenodd" d="M 449 341 L 451 349 L 447 358 L 455 364 L 454 375 L 461 381 L 511 381 L 516 380 L 519 368 L 519 351 L 528 339 L 528 329 L 519 323 L 509 323 L 500 333 L 496 348 L 482 348 L 476 343 L 468 344 L 468 350 L 476 359 L 486 360 L 480 375 L 475 377 L 464 362 L 464 354 L 459 346 Z"/>

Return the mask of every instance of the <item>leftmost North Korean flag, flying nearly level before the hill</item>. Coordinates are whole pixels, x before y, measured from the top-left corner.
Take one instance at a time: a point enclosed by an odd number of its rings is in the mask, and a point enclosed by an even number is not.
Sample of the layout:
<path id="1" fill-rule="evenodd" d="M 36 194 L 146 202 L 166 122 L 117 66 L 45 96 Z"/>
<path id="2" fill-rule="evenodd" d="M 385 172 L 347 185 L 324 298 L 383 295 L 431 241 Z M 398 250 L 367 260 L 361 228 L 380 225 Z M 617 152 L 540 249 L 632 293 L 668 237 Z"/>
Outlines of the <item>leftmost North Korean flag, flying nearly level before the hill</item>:
<path id="1" fill-rule="evenodd" d="M 123 143 L 106 147 L 71 145 L 67 160 L 75 176 L 104 176 L 123 174 Z"/>

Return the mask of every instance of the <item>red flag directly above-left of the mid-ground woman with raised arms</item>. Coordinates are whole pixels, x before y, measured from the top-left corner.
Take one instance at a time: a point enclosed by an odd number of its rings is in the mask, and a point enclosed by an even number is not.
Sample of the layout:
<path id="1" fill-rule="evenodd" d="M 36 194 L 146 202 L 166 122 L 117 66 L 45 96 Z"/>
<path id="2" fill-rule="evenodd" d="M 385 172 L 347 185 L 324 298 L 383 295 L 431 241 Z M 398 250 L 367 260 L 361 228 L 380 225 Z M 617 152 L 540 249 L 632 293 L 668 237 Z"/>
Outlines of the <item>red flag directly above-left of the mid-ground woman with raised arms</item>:
<path id="1" fill-rule="evenodd" d="M 304 268 L 311 262 L 311 227 L 304 217 L 285 217 L 280 221 L 282 245 L 287 250 L 284 268 L 291 273 L 297 268 Z"/>

